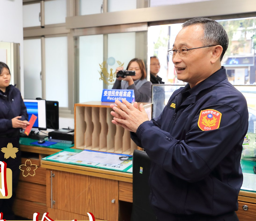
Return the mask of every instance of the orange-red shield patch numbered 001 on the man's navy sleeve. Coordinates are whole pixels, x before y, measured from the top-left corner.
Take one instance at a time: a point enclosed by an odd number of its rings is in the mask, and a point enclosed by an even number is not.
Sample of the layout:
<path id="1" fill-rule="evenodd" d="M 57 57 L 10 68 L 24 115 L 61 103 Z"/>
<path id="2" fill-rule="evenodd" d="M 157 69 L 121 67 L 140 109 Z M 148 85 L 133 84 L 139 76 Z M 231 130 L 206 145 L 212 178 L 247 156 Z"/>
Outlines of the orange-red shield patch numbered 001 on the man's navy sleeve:
<path id="1" fill-rule="evenodd" d="M 206 109 L 200 112 L 197 122 L 202 131 L 211 131 L 219 128 L 222 113 L 214 109 Z"/>

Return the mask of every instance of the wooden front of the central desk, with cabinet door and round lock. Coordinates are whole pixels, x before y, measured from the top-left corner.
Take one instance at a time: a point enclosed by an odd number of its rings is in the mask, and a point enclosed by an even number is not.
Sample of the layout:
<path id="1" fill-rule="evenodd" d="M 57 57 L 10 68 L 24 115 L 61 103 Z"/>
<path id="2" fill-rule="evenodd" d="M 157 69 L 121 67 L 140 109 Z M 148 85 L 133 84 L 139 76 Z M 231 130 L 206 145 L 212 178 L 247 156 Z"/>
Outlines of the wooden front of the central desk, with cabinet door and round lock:
<path id="1" fill-rule="evenodd" d="M 54 220 L 65 211 L 68 220 L 92 212 L 99 220 L 118 221 L 127 212 L 121 201 L 132 202 L 132 174 L 45 160 L 41 167 L 47 169 L 46 206 Z"/>

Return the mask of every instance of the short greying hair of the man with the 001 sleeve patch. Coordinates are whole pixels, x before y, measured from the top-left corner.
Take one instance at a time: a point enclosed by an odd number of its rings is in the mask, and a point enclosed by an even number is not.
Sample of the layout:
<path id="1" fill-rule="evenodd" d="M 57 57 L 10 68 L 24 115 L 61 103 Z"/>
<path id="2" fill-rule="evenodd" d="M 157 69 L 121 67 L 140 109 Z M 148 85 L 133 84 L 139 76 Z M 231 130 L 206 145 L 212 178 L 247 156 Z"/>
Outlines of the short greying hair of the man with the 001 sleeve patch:
<path id="1" fill-rule="evenodd" d="M 201 39 L 201 42 L 203 42 L 204 46 L 217 44 L 223 47 L 223 51 L 220 56 L 220 61 L 222 61 L 222 58 L 228 48 L 228 34 L 223 26 L 213 19 L 192 18 L 184 22 L 182 28 L 194 24 L 201 24 L 204 29 L 204 37 Z"/>

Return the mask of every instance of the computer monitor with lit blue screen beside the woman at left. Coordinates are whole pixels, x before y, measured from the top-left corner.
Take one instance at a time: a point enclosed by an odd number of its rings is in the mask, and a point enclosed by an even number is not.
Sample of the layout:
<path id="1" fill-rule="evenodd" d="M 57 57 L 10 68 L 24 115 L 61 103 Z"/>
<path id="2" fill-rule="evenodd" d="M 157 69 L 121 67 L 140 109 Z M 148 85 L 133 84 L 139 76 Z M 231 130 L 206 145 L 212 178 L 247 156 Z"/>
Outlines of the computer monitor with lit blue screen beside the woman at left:
<path id="1" fill-rule="evenodd" d="M 23 101 L 27 108 L 28 121 L 30 120 L 32 114 L 37 117 L 33 128 L 38 128 L 38 130 L 46 130 L 46 100 L 23 99 Z"/>

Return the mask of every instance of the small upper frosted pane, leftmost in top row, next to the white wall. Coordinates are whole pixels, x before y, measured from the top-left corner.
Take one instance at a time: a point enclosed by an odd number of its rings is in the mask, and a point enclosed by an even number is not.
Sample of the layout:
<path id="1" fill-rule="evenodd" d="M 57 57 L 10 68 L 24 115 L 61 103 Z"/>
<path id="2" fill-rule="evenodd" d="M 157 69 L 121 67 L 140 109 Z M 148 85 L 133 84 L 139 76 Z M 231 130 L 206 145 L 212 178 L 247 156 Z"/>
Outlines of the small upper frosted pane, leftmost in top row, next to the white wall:
<path id="1" fill-rule="evenodd" d="M 40 3 L 23 5 L 23 28 L 41 26 L 40 11 Z"/>

